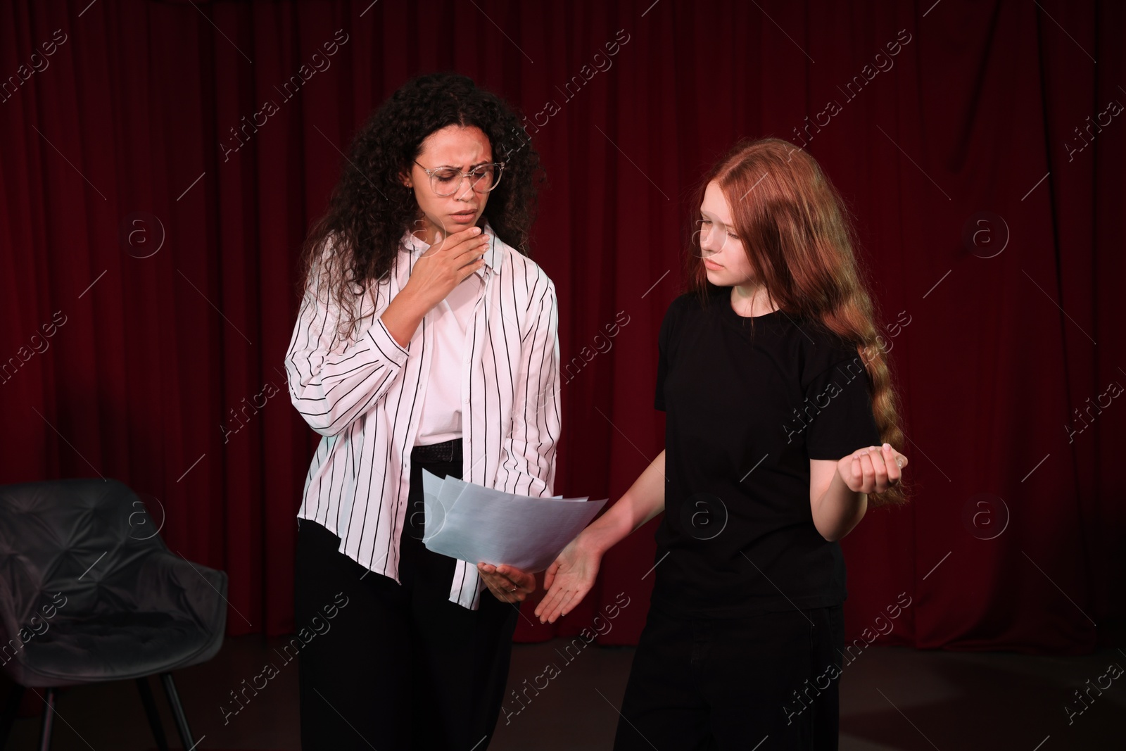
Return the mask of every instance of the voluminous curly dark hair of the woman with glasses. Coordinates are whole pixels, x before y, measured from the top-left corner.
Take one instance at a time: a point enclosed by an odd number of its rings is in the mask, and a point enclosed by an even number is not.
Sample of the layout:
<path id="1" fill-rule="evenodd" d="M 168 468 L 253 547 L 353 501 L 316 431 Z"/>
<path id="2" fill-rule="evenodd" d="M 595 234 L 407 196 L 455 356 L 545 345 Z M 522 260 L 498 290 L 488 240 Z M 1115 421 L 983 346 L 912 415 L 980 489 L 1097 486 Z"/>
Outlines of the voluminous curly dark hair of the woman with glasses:
<path id="1" fill-rule="evenodd" d="M 539 155 L 516 110 L 465 75 L 411 79 L 356 134 L 329 208 L 313 223 L 302 248 L 300 294 L 304 295 L 311 274 L 327 278 L 327 285 L 316 286 L 319 294 L 322 286 L 328 289 L 327 302 L 340 311 L 341 336 L 356 330 L 354 302 L 369 281 L 391 271 L 403 234 L 421 217 L 400 173 L 410 172 L 427 136 L 448 125 L 481 128 L 493 160 L 504 162 L 503 179 L 489 195 L 484 217 L 497 236 L 530 257 L 528 231 L 544 178 Z M 322 257 L 325 267 L 319 268 Z"/>

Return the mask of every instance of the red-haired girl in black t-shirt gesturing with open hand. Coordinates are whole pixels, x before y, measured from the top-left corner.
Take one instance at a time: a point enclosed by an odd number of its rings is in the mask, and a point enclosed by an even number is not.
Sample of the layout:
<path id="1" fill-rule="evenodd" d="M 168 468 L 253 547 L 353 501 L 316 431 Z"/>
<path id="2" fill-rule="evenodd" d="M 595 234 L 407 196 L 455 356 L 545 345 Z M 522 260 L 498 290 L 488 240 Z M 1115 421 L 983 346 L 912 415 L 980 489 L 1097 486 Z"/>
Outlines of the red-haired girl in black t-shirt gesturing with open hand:
<path id="1" fill-rule="evenodd" d="M 655 582 L 615 749 L 835 749 L 844 562 L 901 503 L 883 339 L 840 195 L 785 141 L 704 177 L 689 290 L 661 325 L 665 448 L 547 570 L 554 622 L 661 511 Z"/>

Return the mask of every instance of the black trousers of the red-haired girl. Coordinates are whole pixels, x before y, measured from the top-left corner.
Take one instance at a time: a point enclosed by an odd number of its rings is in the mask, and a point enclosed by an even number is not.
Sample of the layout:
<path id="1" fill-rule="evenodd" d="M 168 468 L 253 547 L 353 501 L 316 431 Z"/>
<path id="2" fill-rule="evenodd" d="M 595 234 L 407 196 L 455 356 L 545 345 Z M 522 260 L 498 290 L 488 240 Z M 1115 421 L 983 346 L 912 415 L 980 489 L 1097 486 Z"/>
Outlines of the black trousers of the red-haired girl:
<path id="1" fill-rule="evenodd" d="M 708 619 L 651 607 L 614 749 L 835 751 L 843 642 L 841 606 Z"/>

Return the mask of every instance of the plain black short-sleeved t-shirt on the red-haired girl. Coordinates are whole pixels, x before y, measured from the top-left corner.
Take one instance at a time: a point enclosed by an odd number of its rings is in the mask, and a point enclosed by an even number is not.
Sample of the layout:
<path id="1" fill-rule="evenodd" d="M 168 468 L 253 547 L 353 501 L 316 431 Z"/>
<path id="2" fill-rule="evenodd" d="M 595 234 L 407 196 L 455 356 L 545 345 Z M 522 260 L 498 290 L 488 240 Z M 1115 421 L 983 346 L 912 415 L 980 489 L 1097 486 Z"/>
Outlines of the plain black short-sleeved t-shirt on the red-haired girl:
<path id="1" fill-rule="evenodd" d="M 731 287 L 664 315 L 654 405 L 667 412 L 653 607 L 742 616 L 839 605 L 840 545 L 813 526 L 810 459 L 879 445 L 855 346 L 776 311 L 743 318 Z"/>

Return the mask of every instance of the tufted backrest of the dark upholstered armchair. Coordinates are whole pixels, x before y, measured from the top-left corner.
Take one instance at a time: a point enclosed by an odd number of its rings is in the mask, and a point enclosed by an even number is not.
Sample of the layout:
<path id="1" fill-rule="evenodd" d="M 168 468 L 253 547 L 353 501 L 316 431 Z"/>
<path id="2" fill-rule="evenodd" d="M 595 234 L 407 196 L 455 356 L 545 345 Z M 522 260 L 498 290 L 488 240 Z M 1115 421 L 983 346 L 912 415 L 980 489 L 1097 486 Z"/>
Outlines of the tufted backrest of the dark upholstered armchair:
<path id="1" fill-rule="evenodd" d="M 144 502 L 116 480 L 0 485 L 0 625 L 132 609 L 128 579 L 167 551 Z"/>

